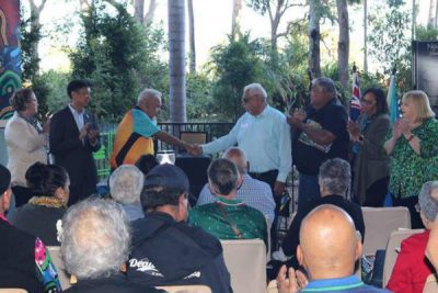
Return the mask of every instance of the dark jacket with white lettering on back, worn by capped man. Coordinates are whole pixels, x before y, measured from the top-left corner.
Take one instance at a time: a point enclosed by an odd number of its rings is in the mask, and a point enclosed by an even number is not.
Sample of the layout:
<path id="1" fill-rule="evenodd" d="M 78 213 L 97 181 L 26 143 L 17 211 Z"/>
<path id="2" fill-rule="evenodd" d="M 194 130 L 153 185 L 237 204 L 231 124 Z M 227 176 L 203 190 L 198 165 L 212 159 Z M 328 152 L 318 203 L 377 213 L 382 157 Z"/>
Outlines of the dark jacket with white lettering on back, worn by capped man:
<path id="1" fill-rule="evenodd" d="M 151 286 L 205 284 L 212 292 L 232 292 L 220 241 L 160 212 L 132 223 L 127 275 Z"/>

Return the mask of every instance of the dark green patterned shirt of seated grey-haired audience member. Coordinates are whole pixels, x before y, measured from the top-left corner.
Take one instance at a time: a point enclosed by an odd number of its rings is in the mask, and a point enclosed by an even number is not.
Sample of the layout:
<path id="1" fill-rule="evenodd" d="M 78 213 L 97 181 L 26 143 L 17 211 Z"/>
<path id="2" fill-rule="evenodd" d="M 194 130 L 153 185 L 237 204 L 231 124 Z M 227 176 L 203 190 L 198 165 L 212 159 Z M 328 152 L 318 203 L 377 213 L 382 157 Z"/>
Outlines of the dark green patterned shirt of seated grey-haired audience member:
<path id="1" fill-rule="evenodd" d="M 191 210 L 188 223 L 203 228 L 219 239 L 239 239 L 232 226 L 242 233 L 243 239 L 260 238 L 267 247 L 267 227 L 263 214 L 240 200 L 217 198 L 215 203 Z"/>

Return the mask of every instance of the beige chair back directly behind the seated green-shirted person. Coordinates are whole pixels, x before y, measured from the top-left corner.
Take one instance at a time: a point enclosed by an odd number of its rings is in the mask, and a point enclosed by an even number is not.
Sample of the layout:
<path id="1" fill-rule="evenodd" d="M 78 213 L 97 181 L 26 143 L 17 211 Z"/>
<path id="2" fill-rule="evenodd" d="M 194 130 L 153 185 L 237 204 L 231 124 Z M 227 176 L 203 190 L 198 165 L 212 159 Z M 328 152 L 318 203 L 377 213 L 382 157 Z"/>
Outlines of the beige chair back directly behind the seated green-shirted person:
<path id="1" fill-rule="evenodd" d="M 261 239 L 220 240 L 234 293 L 266 291 L 266 247 Z"/>

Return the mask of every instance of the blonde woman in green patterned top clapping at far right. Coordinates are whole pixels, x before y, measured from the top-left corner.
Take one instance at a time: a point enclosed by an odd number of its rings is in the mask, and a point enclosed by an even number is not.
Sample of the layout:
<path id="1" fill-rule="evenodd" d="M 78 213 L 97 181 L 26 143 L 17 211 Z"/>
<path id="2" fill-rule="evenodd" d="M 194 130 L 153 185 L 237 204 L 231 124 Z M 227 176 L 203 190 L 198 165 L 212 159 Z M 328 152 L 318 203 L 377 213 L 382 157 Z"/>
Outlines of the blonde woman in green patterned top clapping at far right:
<path id="1" fill-rule="evenodd" d="M 422 228 L 415 205 L 422 184 L 438 178 L 438 122 L 424 91 L 406 92 L 401 112 L 384 144 L 390 156 L 389 191 L 394 205 L 410 209 L 412 228 Z"/>

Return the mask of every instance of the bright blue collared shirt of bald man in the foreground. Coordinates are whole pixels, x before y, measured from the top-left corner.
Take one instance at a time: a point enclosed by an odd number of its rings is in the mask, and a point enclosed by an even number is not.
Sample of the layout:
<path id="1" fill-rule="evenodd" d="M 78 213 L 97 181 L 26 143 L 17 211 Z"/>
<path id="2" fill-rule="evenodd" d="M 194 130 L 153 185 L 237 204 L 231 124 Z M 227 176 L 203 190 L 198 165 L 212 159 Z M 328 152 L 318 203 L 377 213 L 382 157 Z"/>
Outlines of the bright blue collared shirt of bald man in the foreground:
<path id="1" fill-rule="evenodd" d="M 354 274 L 345 278 L 314 280 L 309 282 L 309 284 L 300 292 L 389 293 L 390 291 L 366 285 L 356 274 Z"/>

